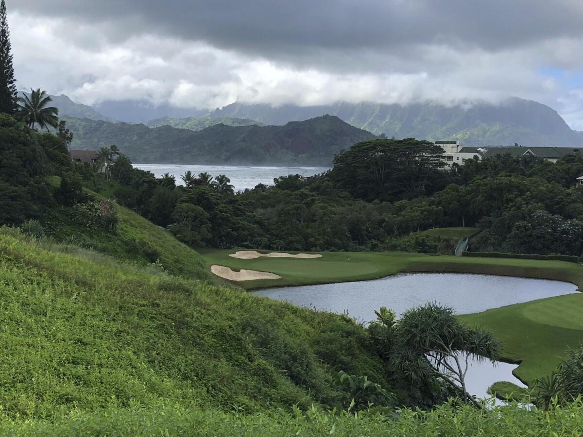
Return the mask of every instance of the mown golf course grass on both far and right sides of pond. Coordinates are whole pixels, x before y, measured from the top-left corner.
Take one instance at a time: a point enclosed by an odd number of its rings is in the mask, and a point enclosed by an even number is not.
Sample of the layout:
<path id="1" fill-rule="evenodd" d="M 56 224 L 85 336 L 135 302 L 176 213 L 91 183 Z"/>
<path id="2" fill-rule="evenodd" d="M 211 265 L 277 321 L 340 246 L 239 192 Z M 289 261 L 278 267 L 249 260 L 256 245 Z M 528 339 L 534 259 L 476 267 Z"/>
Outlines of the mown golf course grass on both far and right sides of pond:
<path id="1" fill-rule="evenodd" d="M 280 277 L 232 282 L 245 290 L 370 280 L 405 272 L 552 279 L 573 283 L 583 290 L 583 266 L 554 260 L 466 258 L 409 252 L 321 252 L 318 253 L 321 258 L 261 256 L 238 259 L 231 256 L 236 252 L 233 250 L 202 249 L 200 252 L 208 269 L 219 265 L 230 267 L 233 272 L 249 269 Z M 469 325 L 490 330 L 500 339 L 504 360 L 519 362 L 514 374 L 528 384 L 534 378 L 549 375 L 567 348 L 581 344 L 582 314 L 583 294 L 577 293 L 503 306 L 460 318 Z"/>

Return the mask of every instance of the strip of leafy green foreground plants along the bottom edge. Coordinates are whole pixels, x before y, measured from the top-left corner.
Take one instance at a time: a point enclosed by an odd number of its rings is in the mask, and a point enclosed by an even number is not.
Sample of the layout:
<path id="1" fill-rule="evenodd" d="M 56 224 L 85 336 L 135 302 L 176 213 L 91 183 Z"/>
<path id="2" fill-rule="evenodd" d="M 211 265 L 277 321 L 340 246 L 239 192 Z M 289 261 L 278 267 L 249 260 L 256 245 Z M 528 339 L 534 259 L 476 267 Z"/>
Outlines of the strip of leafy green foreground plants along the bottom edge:
<path id="1" fill-rule="evenodd" d="M 110 408 L 94 413 L 57 415 L 50 421 L 0 421 L 0 434 L 11 436 L 574 436 L 583 433 L 583 405 L 552 411 L 528 411 L 515 404 L 490 411 L 471 405 L 407 408 L 387 416 L 375 411 L 329 413 L 188 409 L 180 406 Z"/>

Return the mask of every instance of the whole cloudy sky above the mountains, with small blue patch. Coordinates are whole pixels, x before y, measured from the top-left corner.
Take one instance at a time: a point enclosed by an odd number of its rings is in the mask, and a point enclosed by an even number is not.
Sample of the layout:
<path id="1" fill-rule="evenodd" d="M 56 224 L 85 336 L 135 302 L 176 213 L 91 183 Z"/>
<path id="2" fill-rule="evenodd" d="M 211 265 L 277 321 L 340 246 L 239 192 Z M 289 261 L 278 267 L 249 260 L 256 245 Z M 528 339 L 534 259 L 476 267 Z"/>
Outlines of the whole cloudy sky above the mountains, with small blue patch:
<path id="1" fill-rule="evenodd" d="M 47 6 L 48 5 L 48 6 Z M 456 104 L 583 130 L 581 0 L 6 0 L 19 89 L 99 105 Z"/>

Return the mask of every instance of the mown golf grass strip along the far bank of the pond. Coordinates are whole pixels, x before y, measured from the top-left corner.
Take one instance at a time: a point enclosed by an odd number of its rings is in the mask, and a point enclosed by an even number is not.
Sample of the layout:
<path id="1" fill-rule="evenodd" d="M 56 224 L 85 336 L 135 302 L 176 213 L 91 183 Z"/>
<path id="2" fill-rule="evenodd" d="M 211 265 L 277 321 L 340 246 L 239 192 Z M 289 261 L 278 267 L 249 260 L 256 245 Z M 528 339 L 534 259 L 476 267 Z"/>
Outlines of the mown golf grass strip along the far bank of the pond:
<path id="1" fill-rule="evenodd" d="M 199 249 L 207 267 L 222 265 L 234 270 L 271 272 L 282 279 L 240 281 L 249 290 L 273 286 L 294 286 L 377 279 L 399 272 L 457 272 L 524 276 L 572 282 L 583 288 L 583 267 L 563 261 L 462 258 L 452 255 L 424 255 L 411 252 L 319 252 L 322 258 L 256 258 L 229 256 L 235 250 Z"/>

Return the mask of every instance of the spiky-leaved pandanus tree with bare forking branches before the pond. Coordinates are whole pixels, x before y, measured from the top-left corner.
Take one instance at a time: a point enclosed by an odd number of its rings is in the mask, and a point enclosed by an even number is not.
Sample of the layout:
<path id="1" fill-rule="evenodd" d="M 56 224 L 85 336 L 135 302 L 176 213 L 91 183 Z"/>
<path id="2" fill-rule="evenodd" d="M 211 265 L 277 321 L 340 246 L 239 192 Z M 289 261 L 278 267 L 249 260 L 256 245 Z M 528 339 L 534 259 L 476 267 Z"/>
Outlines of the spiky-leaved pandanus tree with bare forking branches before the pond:
<path id="1" fill-rule="evenodd" d="M 489 332 L 463 325 L 454 310 L 427 304 L 406 311 L 395 327 L 391 364 L 412 383 L 441 379 L 464 401 L 483 407 L 468 393 L 470 360 L 500 358 L 500 343 Z"/>

